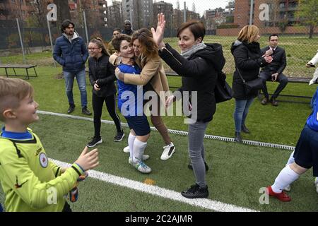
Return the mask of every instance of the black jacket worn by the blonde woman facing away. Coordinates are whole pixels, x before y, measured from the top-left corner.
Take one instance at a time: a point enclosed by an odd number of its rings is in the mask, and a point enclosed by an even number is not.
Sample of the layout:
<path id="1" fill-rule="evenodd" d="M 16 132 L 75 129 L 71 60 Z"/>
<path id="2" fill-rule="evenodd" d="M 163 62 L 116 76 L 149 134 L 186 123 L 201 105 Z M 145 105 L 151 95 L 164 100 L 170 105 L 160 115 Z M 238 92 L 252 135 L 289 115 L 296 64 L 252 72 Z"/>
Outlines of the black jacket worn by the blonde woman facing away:
<path id="1" fill-rule="evenodd" d="M 264 57 L 261 57 L 259 42 L 247 43 L 236 40 L 232 43 L 231 52 L 235 61 L 232 83 L 235 99 L 247 100 L 256 97 L 258 90 L 246 95 L 243 81 L 238 75 L 237 69 L 240 70 L 245 81 L 252 81 L 259 76 L 259 69 L 267 65 Z"/>

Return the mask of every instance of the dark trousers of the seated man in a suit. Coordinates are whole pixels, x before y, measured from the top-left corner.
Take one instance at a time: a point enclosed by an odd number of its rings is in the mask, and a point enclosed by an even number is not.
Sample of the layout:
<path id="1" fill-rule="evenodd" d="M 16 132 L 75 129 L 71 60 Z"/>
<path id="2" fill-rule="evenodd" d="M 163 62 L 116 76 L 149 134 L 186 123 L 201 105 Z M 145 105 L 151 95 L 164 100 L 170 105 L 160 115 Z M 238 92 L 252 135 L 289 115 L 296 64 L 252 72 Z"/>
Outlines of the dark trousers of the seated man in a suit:
<path id="1" fill-rule="evenodd" d="M 269 92 L 267 91 L 267 86 L 266 86 L 266 81 L 269 81 L 269 79 L 271 79 L 271 75 L 273 73 L 271 73 L 270 71 L 261 71 L 260 76 L 263 79 L 263 88 L 261 88 L 261 90 L 264 93 L 264 96 L 266 98 L 269 98 Z M 279 85 L 276 88 L 275 92 L 273 93 L 273 95 L 271 96 L 272 98 L 277 98 L 278 95 L 281 93 L 281 91 L 285 88 L 285 86 L 288 83 L 288 78 L 283 74 L 279 74 L 276 80 Z"/>

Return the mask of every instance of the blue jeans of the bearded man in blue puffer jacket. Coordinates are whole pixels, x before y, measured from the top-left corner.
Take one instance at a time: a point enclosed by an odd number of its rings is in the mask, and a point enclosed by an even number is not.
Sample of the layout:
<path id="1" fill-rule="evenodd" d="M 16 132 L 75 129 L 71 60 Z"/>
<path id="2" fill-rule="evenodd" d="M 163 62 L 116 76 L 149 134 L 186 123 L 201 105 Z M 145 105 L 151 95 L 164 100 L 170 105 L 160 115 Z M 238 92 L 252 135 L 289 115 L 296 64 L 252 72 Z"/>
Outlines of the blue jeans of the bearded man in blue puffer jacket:
<path id="1" fill-rule="evenodd" d="M 78 88 L 81 92 L 81 105 L 87 107 L 87 93 L 86 93 L 86 73 L 85 69 L 77 72 L 63 71 L 65 79 L 66 96 L 69 99 L 69 105 L 74 105 L 73 99 L 73 83 L 76 78 Z"/>

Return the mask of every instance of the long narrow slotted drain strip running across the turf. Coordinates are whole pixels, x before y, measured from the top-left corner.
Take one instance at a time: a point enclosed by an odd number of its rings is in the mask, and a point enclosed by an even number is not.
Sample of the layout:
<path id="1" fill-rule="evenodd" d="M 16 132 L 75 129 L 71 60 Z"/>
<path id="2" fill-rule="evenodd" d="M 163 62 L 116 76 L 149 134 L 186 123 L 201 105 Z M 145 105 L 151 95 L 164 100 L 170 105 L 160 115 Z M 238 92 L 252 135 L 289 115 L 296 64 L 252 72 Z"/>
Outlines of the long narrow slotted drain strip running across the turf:
<path id="1" fill-rule="evenodd" d="M 37 111 L 39 114 L 48 114 L 48 115 L 53 115 L 53 116 L 58 116 L 58 117 L 64 117 L 64 118 L 70 118 L 70 119 L 82 119 L 86 121 L 93 121 L 93 119 L 88 118 L 88 117 L 80 117 L 80 116 L 74 116 L 70 114 L 59 114 L 59 113 L 54 113 L 54 112 L 45 112 L 45 111 Z M 108 121 L 108 120 L 101 120 L 102 123 L 105 124 L 112 124 L 114 125 L 114 121 Z M 122 126 L 128 127 L 128 124 L 122 122 Z M 155 127 L 151 126 L 152 131 L 157 131 Z M 182 135 L 182 136 L 187 136 L 188 132 L 187 131 L 179 131 L 175 129 L 168 129 L 168 133 L 172 134 L 177 134 L 177 135 Z M 212 139 L 212 140 L 218 140 L 218 141 L 225 141 L 225 142 L 232 142 L 234 143 L 235 140 L 234 138 L 229 138 L 225 136 L 214 136 L 214 135 L 205 135 L 204 138 L 207 139 Z M 260 141 L 249 141 L 249 140 L 242 140 L 242 143 L 248 144 L 248 145 L 256 145 L 256 146 L 261 146 L 261 147 L 267 147 L 267 148 L 278 148 L 278 149 L 283 149 L 283 150 L 295 150 L 295 147 L 293 146 L 288 146 L 288 145 L 282 145 L 282 144 L 276 144 L 276 143 L 265 143 L 265 142 L 260 142 Z"/>

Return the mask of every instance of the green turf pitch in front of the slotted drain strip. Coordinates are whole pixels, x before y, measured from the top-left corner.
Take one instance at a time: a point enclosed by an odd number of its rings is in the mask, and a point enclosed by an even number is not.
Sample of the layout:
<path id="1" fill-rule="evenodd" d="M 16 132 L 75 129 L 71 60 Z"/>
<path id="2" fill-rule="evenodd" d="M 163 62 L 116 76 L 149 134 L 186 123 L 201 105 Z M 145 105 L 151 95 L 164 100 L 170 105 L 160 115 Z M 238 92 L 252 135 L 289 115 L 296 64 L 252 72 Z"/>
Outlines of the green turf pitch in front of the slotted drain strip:
<path id="1" fill-rule="evenodd" d="M 88 138 L 93 136 L 93 122 L 40 114 L 40 121 L 30 126 L 45 147 L 47 155 L 60 162 L 74 162 Z M 210 195 L 206 199 L 188 200 L 180 191 L 194 183 L 187 168 L 187 137 L 172 134 L 177 148 L 169 160 L 160 160 L 163 141 L 151 131 L 146 154 L 151 174 L 141 174 L 128 163 L 124 141 L 113 141 L 115 126 L 102 124 L 98 145 L 100 166 L 79 186 L 79 197 L 71 203 L 74 211 L 317 211 L 318 194 L 312 170 L 300 177 L 289 192 L 292 201 L 281 203 L 269 198 L 261 204 L 261 188 L 273 183 L 290 155 L 289 150 L 205 140 L 206 174 Z M 261 200 L 264 200 L 264 198 Z M 4 194 L 0 191 L 0 202 Z"/>

